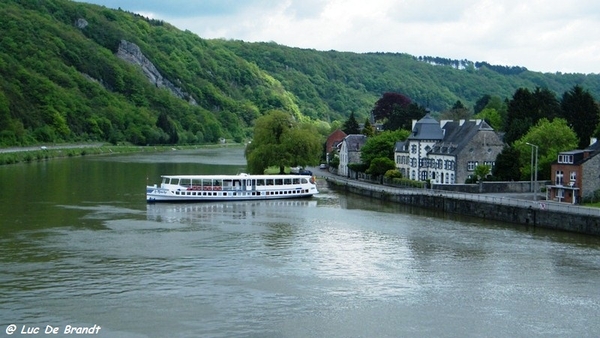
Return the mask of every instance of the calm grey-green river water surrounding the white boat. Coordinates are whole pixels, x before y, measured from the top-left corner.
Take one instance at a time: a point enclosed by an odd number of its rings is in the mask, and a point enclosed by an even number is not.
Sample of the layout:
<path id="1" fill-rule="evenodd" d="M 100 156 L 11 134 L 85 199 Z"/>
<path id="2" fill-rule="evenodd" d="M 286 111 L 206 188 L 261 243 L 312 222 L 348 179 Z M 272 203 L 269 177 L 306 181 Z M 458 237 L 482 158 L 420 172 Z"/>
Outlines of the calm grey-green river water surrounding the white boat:
<path id="1" fill-rule="evenodd" d="M 600 336 L 598 238 L 322 180 L 303 200 L 145 202 L 160 174 L 244 167 L 240 148 L 0 167 L 0 336 Z"/>

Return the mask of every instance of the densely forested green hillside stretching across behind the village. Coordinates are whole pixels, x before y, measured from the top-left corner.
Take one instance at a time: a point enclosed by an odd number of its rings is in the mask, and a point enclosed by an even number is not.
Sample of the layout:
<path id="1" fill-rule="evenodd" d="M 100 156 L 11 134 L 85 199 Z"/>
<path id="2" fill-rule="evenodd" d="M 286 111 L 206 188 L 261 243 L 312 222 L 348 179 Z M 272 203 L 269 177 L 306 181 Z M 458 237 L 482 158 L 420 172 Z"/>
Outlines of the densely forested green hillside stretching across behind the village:
<path id="1" fill-rule="evenodd" d="M 548 74 L 486 62 L 208 40 L 120 9 L 68 0 L 0 2 L 0 145 L 108 141 L 210 143 L 252 137 L 287 111 L 323 134 L 364 121 L 387 92 L 443 113 L 519 88 L 600 97 L 598 74 Z M 156 81 L 120 55 L 139 48 Z M 148 66 L 148 65 L 146 65 Z"/>

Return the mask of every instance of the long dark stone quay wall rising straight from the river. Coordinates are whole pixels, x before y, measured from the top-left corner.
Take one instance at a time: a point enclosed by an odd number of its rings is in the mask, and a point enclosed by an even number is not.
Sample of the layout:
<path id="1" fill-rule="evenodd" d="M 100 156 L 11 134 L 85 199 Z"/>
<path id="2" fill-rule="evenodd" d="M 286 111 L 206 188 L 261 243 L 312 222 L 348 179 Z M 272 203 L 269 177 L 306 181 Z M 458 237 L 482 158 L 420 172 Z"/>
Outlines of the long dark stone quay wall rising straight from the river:
<path id="1" fill-rule="evenodd" d="M 563 210 L 540 209 L 532 201 L 511 201 L 505 199 L 495 202 L 473 201 L 452 194 L 432 193 L 429 190 L 384 189 L 376 184 L 352 184 L 327 178 L 328 185 L 350 193 L 368 196 L 390 202 L 412 205 L 442 212 L 473 216 L 482 219 L 497 220 L 540 228 L 600 235 L 600 216 L 568 213 Z"/>

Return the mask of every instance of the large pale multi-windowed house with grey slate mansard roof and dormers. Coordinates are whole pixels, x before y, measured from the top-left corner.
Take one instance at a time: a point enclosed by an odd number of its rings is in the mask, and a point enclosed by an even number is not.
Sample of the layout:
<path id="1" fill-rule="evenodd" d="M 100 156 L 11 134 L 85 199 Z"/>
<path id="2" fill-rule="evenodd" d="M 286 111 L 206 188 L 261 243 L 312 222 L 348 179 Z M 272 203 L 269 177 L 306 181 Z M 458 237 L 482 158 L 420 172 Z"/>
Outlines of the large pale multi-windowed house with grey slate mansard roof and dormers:
<path id="1" fill-rule="evenodd" d="M 434 184 L 465 183 L 479 164 L 493 167 L 504 148 L 498 133 L 483 120 L 442 120 L 426 114 L 413 120 L 412 132 L 394 149 L 404 177 Z"/>

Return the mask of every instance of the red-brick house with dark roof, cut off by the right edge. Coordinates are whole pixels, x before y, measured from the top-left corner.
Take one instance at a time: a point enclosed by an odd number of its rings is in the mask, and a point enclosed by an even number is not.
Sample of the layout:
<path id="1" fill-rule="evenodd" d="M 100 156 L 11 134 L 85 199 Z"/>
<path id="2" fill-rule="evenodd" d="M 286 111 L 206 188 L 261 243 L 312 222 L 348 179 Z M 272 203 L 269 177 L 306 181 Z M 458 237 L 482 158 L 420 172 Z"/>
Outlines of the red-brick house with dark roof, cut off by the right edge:
<path id="1" fill-rule="evenodd" d="M 552 184 L 546 186 L 546 199 L 581 203 L 600 189 L 600 143 L 592 139 L 583 150 L 563 151 L 551 165 Z"/>

